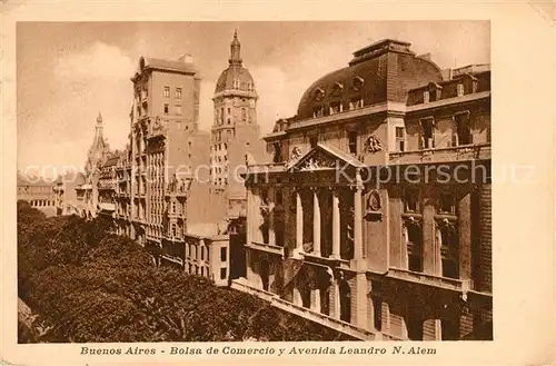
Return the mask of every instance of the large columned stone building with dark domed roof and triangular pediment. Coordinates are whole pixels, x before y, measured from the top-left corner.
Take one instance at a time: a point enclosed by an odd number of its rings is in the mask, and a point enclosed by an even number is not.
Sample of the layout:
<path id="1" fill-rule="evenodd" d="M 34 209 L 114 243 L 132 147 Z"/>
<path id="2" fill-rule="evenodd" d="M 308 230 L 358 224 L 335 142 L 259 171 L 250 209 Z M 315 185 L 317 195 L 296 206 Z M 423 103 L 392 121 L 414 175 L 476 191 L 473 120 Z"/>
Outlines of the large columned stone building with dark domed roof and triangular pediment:
<path id="1" fill-rule="evenodd" d="M 356 51 L 265 137 L 232 286 L 360 339 L 492 339 L 490 71 L 409 47 Z"/>

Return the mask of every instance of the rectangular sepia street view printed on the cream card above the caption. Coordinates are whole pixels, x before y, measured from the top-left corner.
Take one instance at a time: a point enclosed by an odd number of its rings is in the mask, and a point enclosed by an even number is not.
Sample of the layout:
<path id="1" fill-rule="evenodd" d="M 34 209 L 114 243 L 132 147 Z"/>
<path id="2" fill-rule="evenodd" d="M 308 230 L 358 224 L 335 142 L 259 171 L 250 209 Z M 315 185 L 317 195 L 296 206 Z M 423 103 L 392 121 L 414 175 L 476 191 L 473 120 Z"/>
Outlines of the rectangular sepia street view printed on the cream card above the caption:
<path id="1" fill-rule="evenodd" d="M 493 340 L 490 69 L 489 21 L 18 22 L 18 343 Z"/>

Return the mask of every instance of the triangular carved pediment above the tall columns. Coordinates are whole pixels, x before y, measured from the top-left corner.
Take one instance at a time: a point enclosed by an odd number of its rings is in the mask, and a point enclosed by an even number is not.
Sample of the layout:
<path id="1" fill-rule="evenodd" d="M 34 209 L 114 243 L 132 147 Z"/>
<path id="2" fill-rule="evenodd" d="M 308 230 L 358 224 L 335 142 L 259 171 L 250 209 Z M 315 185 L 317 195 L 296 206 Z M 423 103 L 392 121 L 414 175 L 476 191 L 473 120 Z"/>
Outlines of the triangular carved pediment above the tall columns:
<path id="1" fill-rule="evenodd" d="M 319 171 L 341 169 L 346 165 L 364 167 L 355 157 L 324 145 L 317 145 L 297 160 L 291 161 L 288 171 Z"/>

